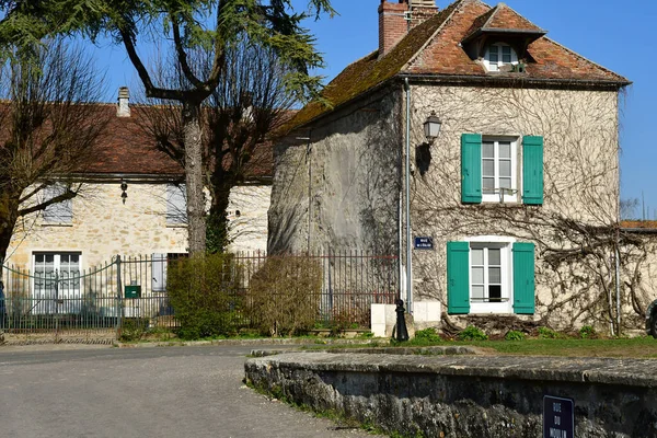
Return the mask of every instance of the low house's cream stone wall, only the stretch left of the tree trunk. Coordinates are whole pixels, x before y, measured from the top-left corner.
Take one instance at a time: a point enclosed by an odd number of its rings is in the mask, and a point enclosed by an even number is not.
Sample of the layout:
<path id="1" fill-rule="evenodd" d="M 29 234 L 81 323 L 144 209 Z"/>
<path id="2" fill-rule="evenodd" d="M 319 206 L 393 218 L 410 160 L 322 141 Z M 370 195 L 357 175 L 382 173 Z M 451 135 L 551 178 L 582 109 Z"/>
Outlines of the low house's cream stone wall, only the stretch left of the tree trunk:
<path id="1" fill-rule="evenodd" d="M 165 184 L 128 186 L 122 203 L 120 184 L 85 184 L 72 199 L 71 224 L 44 223 L 41 214 L 22 219 L 14 230 L 8 263 L 30 267 L 33 252 L 81 252 L 82 267 L 117 255 L 187 252 L 186 226 L 166 224 Z"/>

